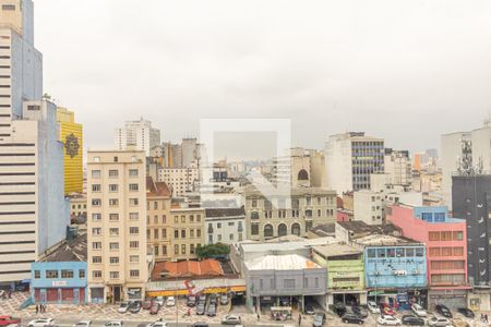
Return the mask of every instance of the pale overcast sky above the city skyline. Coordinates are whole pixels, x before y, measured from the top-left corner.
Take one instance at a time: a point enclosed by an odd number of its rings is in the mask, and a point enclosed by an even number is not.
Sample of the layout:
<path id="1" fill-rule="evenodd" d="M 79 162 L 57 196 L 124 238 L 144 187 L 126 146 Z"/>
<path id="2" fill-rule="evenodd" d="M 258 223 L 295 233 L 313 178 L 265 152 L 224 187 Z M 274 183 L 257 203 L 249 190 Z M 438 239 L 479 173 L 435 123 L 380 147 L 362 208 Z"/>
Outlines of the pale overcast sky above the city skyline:
<path id="1" fill-rule="evenodd" d="M 265 117 L 306 147 L 348 130 L 439 147 L 491 112 L 490 17 L 489 0 L 35 0 L 45 92 L 93 148 L 141 116 L 163 140 Z"/>

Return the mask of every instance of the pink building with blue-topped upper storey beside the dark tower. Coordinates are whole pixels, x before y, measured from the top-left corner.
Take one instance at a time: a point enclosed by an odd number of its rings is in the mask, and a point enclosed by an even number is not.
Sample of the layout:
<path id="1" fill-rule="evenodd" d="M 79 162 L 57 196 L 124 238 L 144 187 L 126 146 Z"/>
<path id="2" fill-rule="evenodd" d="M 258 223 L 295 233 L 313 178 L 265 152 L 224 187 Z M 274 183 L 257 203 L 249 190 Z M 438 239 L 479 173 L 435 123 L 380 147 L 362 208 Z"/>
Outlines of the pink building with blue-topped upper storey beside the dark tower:
<path id="1" fill-rule="evenodd" d="M 448 217 L 446 207 L 395 205 L 387 210 L 387 221 L 403 230 L 403 235 L 427 246 L 428 303 L 448 307 L 467 304 L 467 229 L 464 219 Z"/>

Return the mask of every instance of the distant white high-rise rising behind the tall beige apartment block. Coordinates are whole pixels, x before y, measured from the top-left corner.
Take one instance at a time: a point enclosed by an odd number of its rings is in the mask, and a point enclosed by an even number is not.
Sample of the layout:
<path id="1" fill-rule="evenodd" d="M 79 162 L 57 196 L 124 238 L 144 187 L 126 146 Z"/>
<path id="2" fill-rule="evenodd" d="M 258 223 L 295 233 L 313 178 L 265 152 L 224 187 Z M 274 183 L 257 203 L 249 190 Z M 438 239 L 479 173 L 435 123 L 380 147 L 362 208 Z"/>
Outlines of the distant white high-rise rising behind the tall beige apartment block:
<path id="1" fill-rule="evenodd" d="M 151 149 L 160 145 L 160 130 L 152 128 L 147 120 L 124 122 L 124 128 L 115 129 L 115 146 L 119 150 L 135 149 L 151 155 Z"/>

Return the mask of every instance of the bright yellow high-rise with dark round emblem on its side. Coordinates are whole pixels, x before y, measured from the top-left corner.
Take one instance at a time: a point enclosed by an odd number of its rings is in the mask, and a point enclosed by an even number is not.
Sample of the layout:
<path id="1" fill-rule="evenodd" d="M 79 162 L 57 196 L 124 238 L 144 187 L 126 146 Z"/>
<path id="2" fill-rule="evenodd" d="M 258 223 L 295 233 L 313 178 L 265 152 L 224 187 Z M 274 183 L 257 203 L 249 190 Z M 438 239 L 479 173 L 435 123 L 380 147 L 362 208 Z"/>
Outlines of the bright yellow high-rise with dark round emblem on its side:
<path id="1" fill-rule="evenodd" d="M 75 113 L 58 107 L 60 141 L 63 143 L 64 194 L 83 192 L 83 134 Z"/>

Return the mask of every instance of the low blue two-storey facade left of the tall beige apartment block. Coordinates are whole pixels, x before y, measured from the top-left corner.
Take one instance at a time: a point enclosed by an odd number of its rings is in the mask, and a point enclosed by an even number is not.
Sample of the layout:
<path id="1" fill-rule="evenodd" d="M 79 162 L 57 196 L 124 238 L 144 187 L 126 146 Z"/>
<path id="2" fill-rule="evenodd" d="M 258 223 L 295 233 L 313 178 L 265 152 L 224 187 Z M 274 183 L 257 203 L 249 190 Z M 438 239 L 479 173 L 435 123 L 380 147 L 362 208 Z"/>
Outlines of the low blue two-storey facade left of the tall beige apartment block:
<path id="1" fill-rule="evenodd" d="M 38 262 L 31 265 L 31 294 L 34 302 L 87 302 L 87 263 Z"/>

